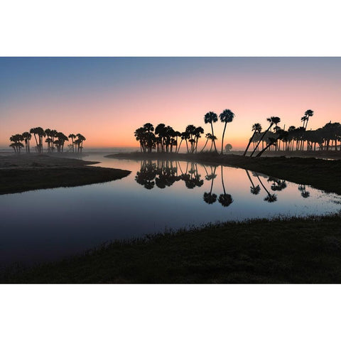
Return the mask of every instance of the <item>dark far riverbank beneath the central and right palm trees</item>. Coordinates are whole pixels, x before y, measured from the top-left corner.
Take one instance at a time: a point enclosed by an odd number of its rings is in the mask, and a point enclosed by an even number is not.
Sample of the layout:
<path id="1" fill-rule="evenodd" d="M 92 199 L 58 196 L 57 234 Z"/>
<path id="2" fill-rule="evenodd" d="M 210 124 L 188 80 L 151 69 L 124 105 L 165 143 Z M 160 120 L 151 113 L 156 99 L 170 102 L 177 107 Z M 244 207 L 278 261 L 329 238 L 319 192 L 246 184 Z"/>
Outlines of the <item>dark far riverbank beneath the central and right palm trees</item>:
<path id="1" fill-rule="evenodd" d="M 293 183 L 311 185 L 328 193 L 341 195 L 341 160 L 286 158 L 285 156 L 249 158 L 234 154 L 217 155 L 215 153 L 120 153 L 106 157 L 134 160 L 168 159 L 234 166 L 271 175 Z"/>

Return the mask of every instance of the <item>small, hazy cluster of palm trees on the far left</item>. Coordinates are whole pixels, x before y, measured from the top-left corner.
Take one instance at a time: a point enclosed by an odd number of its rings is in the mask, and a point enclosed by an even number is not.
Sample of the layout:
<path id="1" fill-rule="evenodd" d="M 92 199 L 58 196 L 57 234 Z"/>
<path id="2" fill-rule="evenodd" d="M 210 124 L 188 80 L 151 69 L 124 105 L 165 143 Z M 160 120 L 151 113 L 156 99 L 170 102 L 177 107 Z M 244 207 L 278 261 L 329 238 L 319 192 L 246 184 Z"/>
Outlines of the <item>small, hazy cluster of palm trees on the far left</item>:
<path id="1" fill-rule="evenodd" d="M 25 131 L 23 134 L 12 135 L 9 140 L 12 142 L 9 146 L 13 148 L 15 153 L 21 153 L 21 148 L 23 148 L 23 143 L 25 143 L 26 153 L 31 153 L 30 141 L 33 137 L 36 141 L 36 151 L 38 153 L 43 153 L 43 138 L 46 137 L 46 151 L 48 153 L 53 153 L 57 149 L 58 153 L 63 153 L 65 141 L 71 139 L 72 144 L 69 145 L 70 151 L 72 153 L 82 153 L 83 141 L 85 137 L 82 134 L 70 134 L 68 137 L 61 131 L 55 129 L 43 129 L 40 126 L 36 128 L 31 128 L 30 131 Z"/>

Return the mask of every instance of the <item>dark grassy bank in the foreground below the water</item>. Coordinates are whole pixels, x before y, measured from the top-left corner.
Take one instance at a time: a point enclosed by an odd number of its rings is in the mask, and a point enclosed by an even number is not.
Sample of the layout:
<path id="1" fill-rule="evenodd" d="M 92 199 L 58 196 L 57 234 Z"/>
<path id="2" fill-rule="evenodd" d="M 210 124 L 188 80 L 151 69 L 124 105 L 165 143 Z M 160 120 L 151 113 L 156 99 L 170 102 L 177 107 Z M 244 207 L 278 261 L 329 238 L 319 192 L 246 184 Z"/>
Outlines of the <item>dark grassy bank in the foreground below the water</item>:
<path id="1" fill-rule="evenodd" d="M 251 220 L 113 242 L 4 283 L 341 283 L 341 215 Z"/>

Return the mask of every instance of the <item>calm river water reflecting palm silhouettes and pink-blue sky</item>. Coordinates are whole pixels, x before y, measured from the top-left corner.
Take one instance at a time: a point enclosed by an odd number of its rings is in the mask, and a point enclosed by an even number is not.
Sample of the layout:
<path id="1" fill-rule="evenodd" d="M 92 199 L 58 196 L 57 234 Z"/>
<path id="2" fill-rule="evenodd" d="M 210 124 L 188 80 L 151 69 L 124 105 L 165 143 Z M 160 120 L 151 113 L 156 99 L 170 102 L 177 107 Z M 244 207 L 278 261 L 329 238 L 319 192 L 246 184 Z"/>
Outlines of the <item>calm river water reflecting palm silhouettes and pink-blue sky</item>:
<path id="1" fill-rule="evenodd" d="M 131 174 L 109 183 L 0 195 L 1 265 L 60 259 L 110 239 L 193 224 L 341 208 L 339 195 L 239 168 L 85 159 Z"/>

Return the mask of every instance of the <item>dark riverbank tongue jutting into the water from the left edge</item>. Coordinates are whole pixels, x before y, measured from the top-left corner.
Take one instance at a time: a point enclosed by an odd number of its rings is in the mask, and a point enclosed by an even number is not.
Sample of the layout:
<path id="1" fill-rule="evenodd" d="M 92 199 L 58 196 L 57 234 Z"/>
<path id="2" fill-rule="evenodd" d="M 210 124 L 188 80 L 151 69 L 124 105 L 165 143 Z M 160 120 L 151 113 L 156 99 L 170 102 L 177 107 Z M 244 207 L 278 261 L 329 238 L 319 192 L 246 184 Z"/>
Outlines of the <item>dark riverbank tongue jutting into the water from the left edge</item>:
<path id="1" fill-rule="evenodd" d="M 130 171 L 88 167 L 97 162 L 48 155 L 0 156 L 0 195 L 117 180 Z"/>

